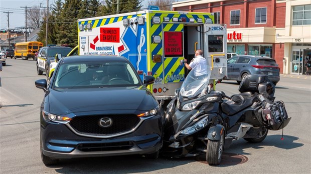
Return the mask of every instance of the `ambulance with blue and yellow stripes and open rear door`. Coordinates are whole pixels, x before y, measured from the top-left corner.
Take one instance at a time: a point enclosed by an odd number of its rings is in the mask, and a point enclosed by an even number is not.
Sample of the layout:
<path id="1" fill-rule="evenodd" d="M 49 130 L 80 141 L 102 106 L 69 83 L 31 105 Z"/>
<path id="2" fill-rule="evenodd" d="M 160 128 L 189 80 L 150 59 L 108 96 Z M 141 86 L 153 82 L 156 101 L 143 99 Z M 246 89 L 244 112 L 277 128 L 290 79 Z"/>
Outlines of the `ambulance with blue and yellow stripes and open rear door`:
<path id="1" fill-rule="evenodd" d="M 214 24 L 214 13 L 142 10 L 78 19 L 79 54 L 114 54 L 128 58 L 140 77 L 153 75 L 157 99 L 172 99 L 188 62 L 202 49 L 211 79 L 227 76 L 227 28 Z"/>

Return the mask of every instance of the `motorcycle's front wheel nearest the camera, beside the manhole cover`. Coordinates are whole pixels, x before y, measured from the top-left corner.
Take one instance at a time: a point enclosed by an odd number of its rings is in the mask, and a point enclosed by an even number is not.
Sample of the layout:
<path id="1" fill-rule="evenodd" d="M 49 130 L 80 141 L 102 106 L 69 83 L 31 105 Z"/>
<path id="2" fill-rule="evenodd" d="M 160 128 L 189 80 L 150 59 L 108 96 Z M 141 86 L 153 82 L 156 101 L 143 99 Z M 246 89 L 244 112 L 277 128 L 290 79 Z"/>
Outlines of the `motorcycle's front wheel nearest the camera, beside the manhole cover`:
<path id="1" fill-rule="evenodd" d="M 222 152 L 224 149 L 225 135 L 222 133 L 219 140 L 207 141 L 206 145 L 206 162 L 210 165 L 218 165 L 221 161 Z"/>

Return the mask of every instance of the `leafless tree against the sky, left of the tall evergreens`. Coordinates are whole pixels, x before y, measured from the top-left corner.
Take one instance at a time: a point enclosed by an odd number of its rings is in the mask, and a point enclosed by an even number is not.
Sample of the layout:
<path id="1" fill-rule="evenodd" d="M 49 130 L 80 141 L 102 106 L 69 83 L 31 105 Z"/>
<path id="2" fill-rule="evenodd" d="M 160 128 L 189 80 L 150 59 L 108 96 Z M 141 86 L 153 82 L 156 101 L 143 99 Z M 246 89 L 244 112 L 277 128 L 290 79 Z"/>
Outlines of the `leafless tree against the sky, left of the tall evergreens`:
<path id="1" fill-rule="evenodd" d="M 27 10 L 27 23 L 33 28 L 40 28 L 45 16 L 46 10 L 41 9 L 38 5 L 34 5 Z"/>

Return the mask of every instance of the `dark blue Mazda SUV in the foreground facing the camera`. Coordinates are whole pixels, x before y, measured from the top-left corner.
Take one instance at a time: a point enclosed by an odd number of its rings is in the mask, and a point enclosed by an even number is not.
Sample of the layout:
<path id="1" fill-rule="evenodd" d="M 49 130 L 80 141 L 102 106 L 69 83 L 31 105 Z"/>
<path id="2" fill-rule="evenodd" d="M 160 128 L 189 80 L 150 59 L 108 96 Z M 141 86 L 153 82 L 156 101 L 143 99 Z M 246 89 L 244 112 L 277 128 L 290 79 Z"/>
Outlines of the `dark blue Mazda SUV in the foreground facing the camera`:
<path id="1" fill-rule="evenodd" d="M 40 149 L 46 165 L 60 158 L 144 154 L 158 157 L 163 145 L 162 104 L 128 59 L 116 55 L 61 58 L 40 111 Z"/>

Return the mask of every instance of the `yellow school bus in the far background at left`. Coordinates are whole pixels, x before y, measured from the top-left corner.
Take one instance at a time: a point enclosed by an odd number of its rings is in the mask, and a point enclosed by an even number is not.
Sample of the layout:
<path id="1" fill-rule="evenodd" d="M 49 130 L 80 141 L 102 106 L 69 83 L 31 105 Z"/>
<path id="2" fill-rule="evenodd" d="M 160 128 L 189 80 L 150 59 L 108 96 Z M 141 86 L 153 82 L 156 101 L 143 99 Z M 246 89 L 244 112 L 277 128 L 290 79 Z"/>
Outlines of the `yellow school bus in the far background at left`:
<path id="1" fill-rule="evenodd" d="M 23 60 L 33 58 L 35 60 L 35 54 L 37 51 L 39 51 L 41 47 L 43 47 L 43 43 L 40 41 L 27 41 L 16 43 L 14 58 L 22 58 Z"/>

